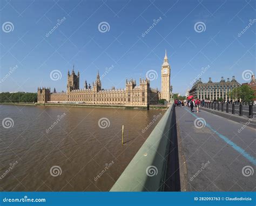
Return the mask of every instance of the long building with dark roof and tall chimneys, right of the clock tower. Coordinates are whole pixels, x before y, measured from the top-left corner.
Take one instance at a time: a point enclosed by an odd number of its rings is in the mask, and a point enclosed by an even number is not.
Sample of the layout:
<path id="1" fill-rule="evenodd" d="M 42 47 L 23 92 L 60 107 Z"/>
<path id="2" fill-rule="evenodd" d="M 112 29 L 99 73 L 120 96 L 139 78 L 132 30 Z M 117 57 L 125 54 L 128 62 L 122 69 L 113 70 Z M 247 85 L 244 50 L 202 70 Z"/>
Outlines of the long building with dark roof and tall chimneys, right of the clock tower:
<path id="1" fill-rule="evenodd" d="M 190 90 L 190 95 L 193 95 L 194 98 L 198 98 L 199 100 L 217 100 L 222 98 L 224 101 L 231 101 L 237 99 L 231 99 L 229 93 L 235 87 L 241 86 L 235 77 L 227 78 L 227 81 L 221 77 L 221 80 L 217 83 L 212 82 L 212 78 L 209 78 L 208 83 L 203 83 L 201 78 L 194 83 L 193 87 Z"/>

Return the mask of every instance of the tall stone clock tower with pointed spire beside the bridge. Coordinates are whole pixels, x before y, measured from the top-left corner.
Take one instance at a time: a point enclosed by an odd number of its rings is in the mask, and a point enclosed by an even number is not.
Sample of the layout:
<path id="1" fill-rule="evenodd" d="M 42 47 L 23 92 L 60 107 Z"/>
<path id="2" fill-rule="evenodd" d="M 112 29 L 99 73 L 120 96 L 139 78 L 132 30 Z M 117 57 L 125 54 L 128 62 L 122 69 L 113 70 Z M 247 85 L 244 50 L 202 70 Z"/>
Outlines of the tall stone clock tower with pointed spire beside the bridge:
<path id="1" fill-rule="evenodd" d="M 161 68 L 161 99 L 166 99 L 166 101 L 170 101 L 170 74 L 171 67 L 165 50 L 164 63 Z"/>

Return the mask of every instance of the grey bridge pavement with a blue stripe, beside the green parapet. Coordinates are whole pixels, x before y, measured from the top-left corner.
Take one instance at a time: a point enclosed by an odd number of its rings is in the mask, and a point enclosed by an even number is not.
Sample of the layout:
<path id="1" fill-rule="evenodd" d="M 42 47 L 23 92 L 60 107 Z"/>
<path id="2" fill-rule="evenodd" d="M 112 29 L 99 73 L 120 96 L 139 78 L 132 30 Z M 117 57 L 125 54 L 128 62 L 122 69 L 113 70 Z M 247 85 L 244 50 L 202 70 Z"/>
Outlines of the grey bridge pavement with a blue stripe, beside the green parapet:
<path id="1" fill-rule="evenodd" d="M 176 120 L 187 190 L 256 191 L 255 129 L 188 107 L 176 107 Z"/>

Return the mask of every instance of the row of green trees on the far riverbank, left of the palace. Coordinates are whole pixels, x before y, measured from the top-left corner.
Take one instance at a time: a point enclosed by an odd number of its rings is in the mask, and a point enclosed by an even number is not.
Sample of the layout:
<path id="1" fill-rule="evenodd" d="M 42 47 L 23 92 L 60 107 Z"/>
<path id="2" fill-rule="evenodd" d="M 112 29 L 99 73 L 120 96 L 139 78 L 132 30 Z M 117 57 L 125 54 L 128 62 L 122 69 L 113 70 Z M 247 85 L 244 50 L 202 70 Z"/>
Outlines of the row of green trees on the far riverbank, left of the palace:
<path id="1" fill-rule="evenodd" d="M 37 93 L 25 92 L 2 92 L 0 93 L 0 102 L 36 102 Z"/>

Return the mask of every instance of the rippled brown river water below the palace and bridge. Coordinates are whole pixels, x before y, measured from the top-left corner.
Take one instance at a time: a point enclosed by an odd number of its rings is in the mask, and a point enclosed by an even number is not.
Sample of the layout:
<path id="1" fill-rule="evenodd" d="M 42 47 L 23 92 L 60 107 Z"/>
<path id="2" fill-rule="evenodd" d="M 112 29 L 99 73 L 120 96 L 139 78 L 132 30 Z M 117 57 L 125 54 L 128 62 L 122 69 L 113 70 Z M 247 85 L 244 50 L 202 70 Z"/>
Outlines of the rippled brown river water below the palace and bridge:
<path id="1" fill-rule="evenodd" d="M 108 191 L 164 112 L 0 105 L 0 191 Z"/>

